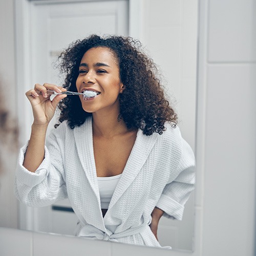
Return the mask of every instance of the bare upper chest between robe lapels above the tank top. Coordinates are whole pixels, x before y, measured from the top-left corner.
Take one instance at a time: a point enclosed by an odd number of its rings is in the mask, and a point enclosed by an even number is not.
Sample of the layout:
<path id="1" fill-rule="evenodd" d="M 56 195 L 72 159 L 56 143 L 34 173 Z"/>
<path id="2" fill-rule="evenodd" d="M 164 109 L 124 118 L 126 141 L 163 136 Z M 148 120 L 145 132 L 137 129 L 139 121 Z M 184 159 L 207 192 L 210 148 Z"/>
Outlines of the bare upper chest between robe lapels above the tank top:
<path id="1" fill-rule="evenodd" d="M 114 138 L 93 138 L 94 160 L 97 177 L 119 175 L 129 159 L 136 133 L 129 133 Z"/>

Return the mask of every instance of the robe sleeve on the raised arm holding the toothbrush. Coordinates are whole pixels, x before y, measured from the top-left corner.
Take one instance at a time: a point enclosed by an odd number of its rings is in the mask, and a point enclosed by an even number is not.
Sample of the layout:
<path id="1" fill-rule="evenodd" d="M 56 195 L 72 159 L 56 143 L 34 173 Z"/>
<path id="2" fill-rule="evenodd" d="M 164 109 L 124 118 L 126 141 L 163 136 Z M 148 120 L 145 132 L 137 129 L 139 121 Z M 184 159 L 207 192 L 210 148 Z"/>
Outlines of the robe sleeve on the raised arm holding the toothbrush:
<path id="1" fill-rule="evenodd" d="M 54 134 L 45 146 L 45 159 L 34 173 L 23 166 L 28 143 L 19 152 L 14 193 L 17 199 L 31 207 L 51 205 L 67 198 L 67 187 L 63 165 L 63 148 Z M 63 146 L 63 145 L 62 145 Z"/>

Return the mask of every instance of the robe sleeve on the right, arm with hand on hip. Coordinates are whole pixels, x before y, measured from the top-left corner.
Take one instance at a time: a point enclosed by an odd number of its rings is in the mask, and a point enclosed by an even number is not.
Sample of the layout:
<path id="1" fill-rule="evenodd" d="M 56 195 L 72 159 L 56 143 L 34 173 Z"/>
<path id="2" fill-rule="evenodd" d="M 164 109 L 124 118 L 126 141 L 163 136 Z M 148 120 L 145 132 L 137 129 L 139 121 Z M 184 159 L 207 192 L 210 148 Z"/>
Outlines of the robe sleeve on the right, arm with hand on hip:
<path id="1" fill-rule="evenodd" d="M 184 139 L 177 173 L 178 176 L 174 180 L 169 179 L 156 206 L 164 211 L 164 217 L 181 220 L 184 205 L 195 187 L 195 157 Z"/>

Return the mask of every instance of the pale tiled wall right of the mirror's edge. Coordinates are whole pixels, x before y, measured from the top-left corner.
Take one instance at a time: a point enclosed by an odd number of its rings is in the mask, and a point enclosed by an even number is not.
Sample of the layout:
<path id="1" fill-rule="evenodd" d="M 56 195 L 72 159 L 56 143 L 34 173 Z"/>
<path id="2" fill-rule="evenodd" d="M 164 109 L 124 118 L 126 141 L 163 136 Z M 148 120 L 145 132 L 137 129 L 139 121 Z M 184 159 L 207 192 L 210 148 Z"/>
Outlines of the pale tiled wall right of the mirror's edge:
<path id="1" fill-rule="evenodd" d="M 199 66 L 199 90 L 206 84 L 202 255 L 249 256 L 256 201 L 256 1 L 206 5 Z"/>

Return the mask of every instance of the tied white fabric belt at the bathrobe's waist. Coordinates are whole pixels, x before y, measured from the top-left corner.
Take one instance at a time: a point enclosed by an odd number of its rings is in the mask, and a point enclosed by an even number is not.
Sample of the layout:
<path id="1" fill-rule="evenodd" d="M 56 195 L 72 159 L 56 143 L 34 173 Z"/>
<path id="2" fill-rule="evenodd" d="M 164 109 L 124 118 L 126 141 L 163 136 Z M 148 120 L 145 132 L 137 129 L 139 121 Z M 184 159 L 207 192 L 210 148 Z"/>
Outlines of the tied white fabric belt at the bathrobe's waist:
<path id="1" fill-rule="evenodd" d="M 118 238 L 128 237 L 132 236 L 133 234 L 141 233 L 146 228 L 146 226 L 148 226 L 148 223 L 144 222 L 138 227 L 129 228 L 119 233 L 112 233 L 109 229 L 106 228 L 106 231 L 108 232 L 106 233 L 90 224 L 87 224 L 81 228 L 80 232 L 78 233 L 78 237 L 117 242 Z"/>

